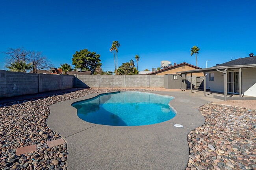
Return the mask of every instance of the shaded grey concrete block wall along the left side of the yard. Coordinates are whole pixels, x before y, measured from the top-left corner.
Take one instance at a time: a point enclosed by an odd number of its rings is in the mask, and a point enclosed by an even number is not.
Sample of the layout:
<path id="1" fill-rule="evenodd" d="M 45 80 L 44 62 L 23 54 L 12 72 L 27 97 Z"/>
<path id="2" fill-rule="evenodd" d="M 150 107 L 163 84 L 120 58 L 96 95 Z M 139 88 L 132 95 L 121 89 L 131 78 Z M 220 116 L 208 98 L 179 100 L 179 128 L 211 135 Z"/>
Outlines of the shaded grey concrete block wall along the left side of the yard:
<path id="1" fill-rule="evenodd" d="M 0 70 L 0 98 L 73 87 L 73 75 L 20 73 Z"/>

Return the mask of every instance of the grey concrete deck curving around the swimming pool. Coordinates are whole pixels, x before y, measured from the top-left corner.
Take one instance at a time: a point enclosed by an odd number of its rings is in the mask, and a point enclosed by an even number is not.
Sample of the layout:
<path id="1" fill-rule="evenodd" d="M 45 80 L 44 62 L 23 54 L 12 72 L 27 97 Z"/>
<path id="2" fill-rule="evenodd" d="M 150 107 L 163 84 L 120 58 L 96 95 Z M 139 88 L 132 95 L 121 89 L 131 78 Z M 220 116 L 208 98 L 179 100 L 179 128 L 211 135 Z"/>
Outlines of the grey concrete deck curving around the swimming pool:
<path id="1" fill-rule="evenodd" d="M 71 104 L 101 93 L 50 106 L 47 125 L 67 142 L 68 169 L 185 169 L 189 159 L 187 134 L 205 122 L 198 108 L 220 100 L 182 91 L 147 93 L 173 96 L 169 104 L 177 115 L 146 126 L 106 126 L 80 119 Z M 174 124 L 184 127 L 176 128 Z"/>

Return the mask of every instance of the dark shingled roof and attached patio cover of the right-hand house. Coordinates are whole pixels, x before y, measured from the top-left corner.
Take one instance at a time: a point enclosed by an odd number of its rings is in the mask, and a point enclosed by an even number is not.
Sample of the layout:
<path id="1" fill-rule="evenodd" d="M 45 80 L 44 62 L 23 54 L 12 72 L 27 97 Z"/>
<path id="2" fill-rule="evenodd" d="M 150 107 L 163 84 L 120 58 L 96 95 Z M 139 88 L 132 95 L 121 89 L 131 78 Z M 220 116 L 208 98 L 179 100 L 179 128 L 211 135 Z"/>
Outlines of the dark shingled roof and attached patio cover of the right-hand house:
<path id="1" fill-rule="evenodd" d="M 188 70 L 188 71 L 180 71 L 177 73 L 202 73 L 209 71 L 217 71 L 217 69 L 237 69 L 237 68 L 252 68 L 256 67 L 256 56 L 238 58 L 236 60 L 232 60 L 229 62 L 224 62 L 223 64 L 219 64 L 218 66 L 213 66 L 210 68 L 203 68 L 197 70 Z"/>

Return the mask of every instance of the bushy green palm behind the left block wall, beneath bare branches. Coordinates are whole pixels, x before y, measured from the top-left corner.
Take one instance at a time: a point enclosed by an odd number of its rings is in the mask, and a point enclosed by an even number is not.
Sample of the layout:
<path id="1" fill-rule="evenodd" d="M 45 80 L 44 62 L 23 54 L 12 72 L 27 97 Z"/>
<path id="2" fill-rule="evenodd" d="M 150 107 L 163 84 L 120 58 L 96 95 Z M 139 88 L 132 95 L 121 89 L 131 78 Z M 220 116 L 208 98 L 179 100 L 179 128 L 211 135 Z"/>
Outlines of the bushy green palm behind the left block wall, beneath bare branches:
<path id="1" fill-rule="evenodd" d="M 9 68 L 10 71 L 26 73 L 29 69 L 33 68 L 33 64 L 32 63 L 26 64 L 25 61 L 19 60 L 19 61 L 12 62 L 6 68 Z"/>

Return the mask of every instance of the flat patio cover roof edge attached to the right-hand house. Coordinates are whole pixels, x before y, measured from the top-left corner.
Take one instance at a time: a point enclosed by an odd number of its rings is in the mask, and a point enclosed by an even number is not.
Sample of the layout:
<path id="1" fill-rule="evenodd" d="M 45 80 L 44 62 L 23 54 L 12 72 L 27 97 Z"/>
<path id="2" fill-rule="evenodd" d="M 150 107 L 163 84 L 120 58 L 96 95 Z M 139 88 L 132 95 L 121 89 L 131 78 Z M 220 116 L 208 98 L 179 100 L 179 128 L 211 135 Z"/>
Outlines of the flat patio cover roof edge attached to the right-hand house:
<path id="1" fill-rule="evenodd" d="M 247 65 L 237 65 L 237 66 L 213 66 L 210 68 L 202 68 L 202 69 L 195 69 L 195 70 L 188 70 L 188 71 L 179 71 L 176 73 L 187 74 L 187 73 L 203 73 L 209 71 L 217 71 L 216 69 L 239 69 L 239 68 L 253 68 L 256 67 L 256 64 L 247 64 Z"/>

